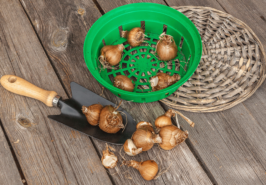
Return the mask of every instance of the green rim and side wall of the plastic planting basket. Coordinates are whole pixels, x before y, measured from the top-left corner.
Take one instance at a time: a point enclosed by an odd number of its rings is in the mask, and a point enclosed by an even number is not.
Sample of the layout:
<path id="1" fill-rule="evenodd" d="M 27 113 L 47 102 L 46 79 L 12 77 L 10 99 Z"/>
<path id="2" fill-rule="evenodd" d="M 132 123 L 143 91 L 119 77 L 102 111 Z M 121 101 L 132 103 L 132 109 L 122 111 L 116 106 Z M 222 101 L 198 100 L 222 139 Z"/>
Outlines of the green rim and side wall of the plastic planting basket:
<path id="1" fill-rule="evenodd" d="M 142 15 L 143 18 L 141 18 L 140 14 Z M 132 15 L 135 15 L 135 17 L 132 18 Z M 165 16 L 165 18 L 164 18 L 164 16 Z M 136 18 L 136 20 L 135 20 L 135 18 Z M 179 23 L 179 25 L 171 25 L 171 23 L 170 23 L 170 21 L 168 21 L 168 19 L 171 19 L 171 21 L 174 24 Z M 185 72 L 183 71 L 183 74 L 181 74 L 181 72 L 180 72 L 181 80 L 177 81 L 174 85 L 171 85 L 171 86 L 169 86 L 163 90 L 145 92 L 145 89 L 144 89 L 141 92 L 141 90 L 139 90 L 137 86 L 134 88 L 134 89 L 137 89 L 137 90 L 134 90 L 135 92 L 134 91 L 129 92 L 129 91 L 125 91 L 125 90 L 120 90 L 120 89 L 114 87 L 112 85 L 111 80 L 109 80 L 108 77 L 106 77 L 106 76 L 110 75 L 110 73 L 112 73 L 113 77 L 115 77 L 116 75 L 120 75 L 120 74 L 123 75 L 125 70 L 124 69 L 118 69 L 118 70 L 111 69 L 111 72 L 110 72 L 110 70 L 108 72 L 107 69 L 105 69 L 106 71 L 99 69 L 99 61 L 97 61 L 97 59 L 100 56 L 100 49 L 104 45 L 103 40 L 105 41 L 106 45 L 116 45 L 116 44 L 125 43 L 126 39 L 120 38 L 118 28 L 121 27 L 121 25 L 123 25 L 123 30 L 126 30 L 125 28 L 128 27 L 127 30 L 129 31 L 130 25 L 132 25 L 132 26 L 138 25 L 141 21 L 145 21 L 145 25 L 147 25 L 146 30 L 145 30 L 145 35 L 147 37 L 149 37 L 148 39 L 155 38 L 156 35 L 158 36 L 162 33 L 163 30 L 162 29 L 160 30 L 159 28 L 157 28 L 157 27 L 160 27 L 157 25 L 166 24 L 166 25 L 168 25 L 167 30 L 166 30 L 166 34 L 167 34 L 167 31 L 169 30 L 170 33 L 178 35 L 177 40 L 179 42 L 180 42 L 180 39 L 182 37 L 184 39 L 184 42 L 186 42 L 186 44 L 184 44 L 184 45 L 186 45 L 186 47 L 189 50 L 187 57 L 186 57 L 186 62 L 187 63 L 190 62 L 190 64 L 188 64 L 189 65 L 189 67 L 187 68 L 188 70 Z M 182 25 L 180 23 L 182 23 Z M 154 24 L 154 28 L 151 28 L 151 26 L 148 27 L 148 24 Z M 140 26 L 136 26 L 136 27 L 140 27 Z M 178 28 L 176 28 L 176 27 L 178 27 Z M 182 29 L 181 31 L 178 30 L 179 27 L 182 27 L 182 28 L 180 28 L 180 29 Z M 108 29 L 110 29 L 110 30 L 108 30 Z M 157 33 L 150 32 L 152 29 L 155 29 L 155 31 Z M 112 38 L 112 35 L 114 35 L 113 36 L 114 39 Z M 176 41 L 176 39 L 175 39 L 175 41 Z M 155 43 L 152 40 L 148 40 L 147 42 L 148 42 L 148 45 Z M 132 51 L 132 49 L 131 50 L 127 49 L 129 47 L 129 44 L 125 44 L 124 46 L 125 46 L 124 52 L 125 52 L 126 56 L 128 55 L 128 57 L 130 59 L 135 59 L 134 58 L 135 56 L 133 56 L 133 54 L 130 53 Z M 141 49 L 144 49 L 143 46 L 137 46 L 137 47 L 135 47 L 135 49 L 137 50 L 137 53 L 140 53 L 140 54 L 136 54 L 136 55 L 141 56 L 141 54 L 142 54 L 142 55 L 145 55 L 145 57 L 147 56 L 148 52 L 141 53 Z M 154 48 L 149 49 L 149 50 L 154 51 Z M 179 52 L 182 52 L 181 48 L 179 48 L 178 50 L 179 50 Z M 123 62 L 127 63 L 126 67 L 131 69 L 131 71 L 129 70 L 130 76 L 136 76 L 135 74 L 131 74 L 131 72 L 134 70 L 133 68 L 134 68 L 135 63 L 133 64 L 130 61 L 130 59 L 128 61 L 127 60 L 122 61 L 126 57 L 124 55 L 122 56 L 121 63 L 123 63 Z M 171 7 L 161 5 L 161 4 L 156 4 L 156 3 L 127 4 L 127 5 L 115 8 L 115 9 L 105 13 L 97 21 L 95 21 L 95 23 L 91 26 L 89 32 L 86 35 L 85 41 L 84 41 L 84 59 L 85 59 L 85 62 L 86 62 L 88 69 L 90 70 L 90 72 L 94 76 L 94 78 L 101 85 L 103 85 L 105 88 L 109 89 L 115 95 L 119 96 L 122 99 L 134 101 L 134 102 L 157 101 L 157 100 L 161 100 L 161 99 L 165 98 L 166 96 L 172 94 L 174 91 L 176 91 L 178 89 L 178 87 L 180 87 L 182 84 L 184 84 L 191 77 L 191 75 L 195 72 L 195 70 L 196 70 L 196 68 L 200 62 L 201 55 L 202 55 L 202 42 L 201 42 L 199 32 L 198 32 L 197 28 L 195 27 L 195 25 L 184 14 L 178 12 L 177 10 L 175 10 Z M 153 60 L 156 60 L 156 58 L 154 56 L 152 56 L 152 57 L 154 58 Z M 149 62 L 149 61 L 147 61 L 147 59 L 145 59 L 145 61 Z M 153 61 L 153 64 L 147 64 L 148 65 L 147 69 L 149 67 L 153 68 L 153 66 L 156 65 L 156 67 L 154 67 L 156 70 L 151 71 L 151 73 L 149 75 L 147 75 L 147 73 L 145 73 L 144 76 L 149 76 L 149 78 L 151 78 L 151 76 L 156 75 L 157 69 L 159 69 L 159 67 L 157 66 L 158 64 L 155 64 L 155 63 L 159 63 L 159 62 L 164 62 L 164 61 Z M 146 67 L 146 64 L 143 65 L 140 62 L 136 63 L 136 65 L 139 65 L 140 68 Z M 180 63 L 180 66 L 181 65 L 182 64 Z M 183 66 L 181 66 L 180 68 L 183 68 Z M 168 71 L 169 73 L 171 73 L 171 75 L 176 73 L 173 70 L 172 71 L 169 71 L 168 69 L 162 69 L 162 70 Z M 100 74 L 100 73 L 102 73 L 102 74 Z M 177 72 L 177 73 L 179 73 L 179 72 Z M 136 78 L 139 78 L 139 77 L 136 76 Z M 147 81 L 148 81 L 148 78 L 146 80 L 146 83 L 143 83 L 143 84 L 149 85 Z M 138 92 L 136 92 L 136 91 L 138 91 Z"/>

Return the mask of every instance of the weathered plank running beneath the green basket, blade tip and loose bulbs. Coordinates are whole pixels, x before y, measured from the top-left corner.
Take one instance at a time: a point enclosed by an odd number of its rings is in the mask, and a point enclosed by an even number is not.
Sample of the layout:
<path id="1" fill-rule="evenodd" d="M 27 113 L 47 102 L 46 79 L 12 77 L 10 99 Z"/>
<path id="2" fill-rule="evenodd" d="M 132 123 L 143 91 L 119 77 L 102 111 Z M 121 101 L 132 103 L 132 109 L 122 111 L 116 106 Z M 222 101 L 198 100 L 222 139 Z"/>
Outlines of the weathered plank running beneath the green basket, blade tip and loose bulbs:
<path id="1" fill-rule="evenodd" d="M 85 6 L 85 2 L 72 1 L 68 3 L 71 4 L 71 7 L 74 7 L 72 8 L 73 11 L 70 10 L 65 11 L 67 8 L 64 3 L 60 5 L 54 3 L 53 9 L 51 9 L 50 5 L 49 6 L 46 5 L 46 7 L 41 6 L 45 4 L 44 1 L 43 2 L 38 1 L 34 3 L 29 1 L 24 1 L 25 4 L 24 8 L 27 11 L 30 20 L 32 20 L 32 22 L 35 21 L 36 23 L 38 23 L 38 27 L 42 28 L 38 29 L 37 26 L 35 27 L 36 32 L 39 35 L 39 38 L 43 43 L 46 52 L 50 56 L 51 62 L 53 63 L 55 70 L 58 72 L 60 78 L 62 78 L 62 82 L 66 87 L 66 91 L 69 94 L 71 94 L 69 83 L 70 81 L 76 81 L 77 83 L 83 85 L 84 87 L 98 94 L 101 94 L 102 92 L 101 85 L 98 82 L 96 82 L 96 80 L 89 73 L 88 69 L 85 67 L 83 59 L 83 49 L 82 49 L 83 39 L 85 38 L 88 31 L 87 26 L 92 25 L 93 21 L 97 19 L 98 14 L 95 15 L 89 14 L 88 12 L 91 10 L 91 8 L 89 7 L 91 6 L 93 7 L 93 5 Z M 110 1 L 106 2 L 106 4 L 109 3 Z M 76 15 L 77 7 L 82 8 L 84 10 L 84 14 Z M 63 17 L 67 17 L 68 19 L 63 19 Z M 47 25 L 45 20 L 49 20 L 50 25 Z M 54 45 L 50 44 L 51 38 L 55 37 L 54 36 L 55 32 L 53 31 L 53 29 L 63 28 L 63 27 L 66 28 L 67 26 L 65 25 L 68 25 L 68 27 L 72 28 L 72 29 L 67 28 L 68 31 L 66 34 L 66 35 L 71 35 L 71 37 L 70 36 L 62 37 L 65 46 L 64 49 L 62 49 L 61 46 L 55 48 Z M 75 25 L 75 27 L 71 25 Z M 53 35 L 53 37 L 49 35 Z M 66 65 L 67 67 L 65 67 Z M 66 78 L 64 77 L 65 75 L 67 75 Z M 120 101 L 118 97 L 114 96 L 113 94 L 110 93 L 109 90 L 106 89 L 103 91 L 102 96 L 113 102 Z M 161 114 L 164 113 L 163 109 L 161 108 L 158 102 L 147 103 L 147 104 L 127 102 L 121 106 L 125 108 L 128 112 L 130 112 L 132 116 L 135 115 L 136 121 L 145 120 L 145 121 L 154 122 L 157 116 L 160 116 Z M 105 143 L 95 139 L 92 139 L 92 141 L 96 146 L 96 150 L 98 151 L 99 156 L 101 157 L 102 156 L 101 152 L 102 150 L 105 149 Z M 120 150 L 121 146 L 112 146 L 112 147 L 116 149 L 115 154 L 119 157 L 119 165 L 120 165 L 122 162 L 122 158 L 119 156 L 120 154 L 118 151 Z M 139 160 L 148 160 L 155 158 L 157 156 L 157 153 L 158 150 L 155 148 L 154 150 L 152 149 L 151 151 L 143 152 L 140 156 L 137 156 L 135 158 Z M 146 182 L 142 179 L 142 177 L 135 169 L 128 168 L 126 166 L 119 167 L 120 173 L 116 174 L 114 174 L 116 172 L 115 169 L 111 169 L 110 173 L 114 175 L 110 175 L 110 178 L 112 179 L 113 182 L 115 182 L 115 184 L 131 184 L 131 183 L 167 184 L 166 182 L 175 183 L 176 179 L 171 178 L 171 176 L 180 174 L 180 177 L 183 176 L 183 178 L 179 180 L 180 184 L 204 184 L 204 185 L 211 184 L 210 180 L 203 172 L 197 160 L 189 151 L 186 145 L 183 144 L 182 147 L 173 149 L 166 156 L 168 158 L 169 157 L 175 158 L 175 162 L 173 162 L 173 164 L 171 165 L 169 172 L 166 172 L 164 176 L 161 176 L 160 178 L 156 179 L 156 181 Z M 171 164 L 169 161 L 166 160 L 167 159 L 164 159 L 165 164 L 162 165 L 163 167 L 168 167 Z M 176 165 L 176 164 L 184 164 L 187 161 L 190 161 L 189 163 L 189 165 L 191 165 L 190 167 L 180 168 Z M 157 162 L 160 164 L 160 161 Z M 79 173 L 78 164 L 76 168 L 77 171 L 75 172 Z M 197 171 L 195 171 L 194 169 L 197 169 Z M 126 171 L 128 171 L 132 179 L 127 179 Z M 81 175 L 83 174 L 81 173 Z"/>

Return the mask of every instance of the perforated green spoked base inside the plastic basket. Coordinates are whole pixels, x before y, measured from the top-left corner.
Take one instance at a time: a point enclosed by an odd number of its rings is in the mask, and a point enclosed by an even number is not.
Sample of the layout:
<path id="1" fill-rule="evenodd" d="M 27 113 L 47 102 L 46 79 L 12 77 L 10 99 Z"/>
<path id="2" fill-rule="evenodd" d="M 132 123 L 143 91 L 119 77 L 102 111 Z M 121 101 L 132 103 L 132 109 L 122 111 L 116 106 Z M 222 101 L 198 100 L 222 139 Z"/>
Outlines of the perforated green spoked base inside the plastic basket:
<path id="1" fill-rule="evenodd" d="M 156 43 L 159 36 L 158 34 L 147 33 L 146 40 L 138 47 L 130 46 L 124 38 L 118 39 L 113 45 L 124 44 L 125 49 L 122 59 L 119 64 L 114 66 L 115 69 L 102 70 L 100 73 L 102 78 L 112 85 L 115 76 L 126 75 L 134 82 L 135 88 L 133 92 L 138 93 L 152 91 L 149 80 L 158 72 L 171 76 L 179 74 L 182 78 L 186 74 L 189 60 L 185 58 L 180 46 L 178 46 L 178 54 L 174 59 L 169 61 L 158 60 Z"/>

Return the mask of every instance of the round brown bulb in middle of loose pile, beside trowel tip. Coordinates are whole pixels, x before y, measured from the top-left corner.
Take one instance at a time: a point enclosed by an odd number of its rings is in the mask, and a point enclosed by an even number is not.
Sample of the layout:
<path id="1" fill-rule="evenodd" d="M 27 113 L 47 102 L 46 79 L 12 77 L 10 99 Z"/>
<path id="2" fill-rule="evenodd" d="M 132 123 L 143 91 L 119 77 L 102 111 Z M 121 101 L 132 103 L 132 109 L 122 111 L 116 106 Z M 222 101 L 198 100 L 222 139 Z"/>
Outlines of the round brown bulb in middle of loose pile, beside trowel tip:
<path id="1" fill-rule="evenodd" d="M 161 136 L 155 134 L 152 126 L 148 124 L 138 126 L 137 130 L 132 134 L 131 140 L 137 148 L 147 151 L 152 148 L 155 143 L 161 143 Z M 151 123 L 150 123 L 151 124 Z"/>

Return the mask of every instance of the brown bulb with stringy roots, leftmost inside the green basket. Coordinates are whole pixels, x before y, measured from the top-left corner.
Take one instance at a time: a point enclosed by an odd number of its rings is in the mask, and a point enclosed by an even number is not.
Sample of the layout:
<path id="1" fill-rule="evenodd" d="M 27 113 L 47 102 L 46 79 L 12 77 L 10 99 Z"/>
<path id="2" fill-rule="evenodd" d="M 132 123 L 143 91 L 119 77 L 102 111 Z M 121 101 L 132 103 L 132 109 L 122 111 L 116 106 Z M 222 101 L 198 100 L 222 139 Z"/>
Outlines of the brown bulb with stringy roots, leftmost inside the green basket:
<path id="1" fill-rule="evenodd" d="M 101 55 L 99 57 L 99 61 L 103 65 L 103 68 L 113 69 L 111 66 L 120 62 L 123 49 L 125 49 L 123 44 L 105 45 L 101 49 Z"/>

